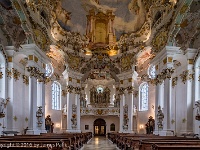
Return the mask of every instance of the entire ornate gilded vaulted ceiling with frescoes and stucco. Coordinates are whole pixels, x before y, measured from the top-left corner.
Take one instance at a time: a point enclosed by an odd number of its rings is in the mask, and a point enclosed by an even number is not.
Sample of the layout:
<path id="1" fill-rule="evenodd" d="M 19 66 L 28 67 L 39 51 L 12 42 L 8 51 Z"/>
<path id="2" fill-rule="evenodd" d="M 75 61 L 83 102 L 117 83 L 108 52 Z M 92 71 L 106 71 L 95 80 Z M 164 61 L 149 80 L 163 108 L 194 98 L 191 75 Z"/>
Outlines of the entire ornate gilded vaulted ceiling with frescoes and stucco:
<path id="1" fill-rule="evenodd" d="M 199 8 L 198 0 L 0 0 L 1 43 L 17 51 L 34 42 L 58 71 L 67 64 L 85 78 L 103 70 L 116 79 L 165 45 L 198 48 Z"/>

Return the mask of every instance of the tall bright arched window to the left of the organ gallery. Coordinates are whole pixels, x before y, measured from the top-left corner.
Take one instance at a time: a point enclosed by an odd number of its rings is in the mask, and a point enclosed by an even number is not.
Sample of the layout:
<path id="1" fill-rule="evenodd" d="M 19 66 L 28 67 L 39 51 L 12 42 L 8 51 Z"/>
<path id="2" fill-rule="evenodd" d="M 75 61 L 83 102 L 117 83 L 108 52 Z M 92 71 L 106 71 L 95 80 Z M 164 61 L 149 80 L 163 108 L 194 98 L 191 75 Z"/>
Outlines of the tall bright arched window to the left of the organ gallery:
<path id="1" fill-rule="evenodd" d="M 61 88 L 56 81 L 52 84 L 52 109 L 61 110 Z"/>

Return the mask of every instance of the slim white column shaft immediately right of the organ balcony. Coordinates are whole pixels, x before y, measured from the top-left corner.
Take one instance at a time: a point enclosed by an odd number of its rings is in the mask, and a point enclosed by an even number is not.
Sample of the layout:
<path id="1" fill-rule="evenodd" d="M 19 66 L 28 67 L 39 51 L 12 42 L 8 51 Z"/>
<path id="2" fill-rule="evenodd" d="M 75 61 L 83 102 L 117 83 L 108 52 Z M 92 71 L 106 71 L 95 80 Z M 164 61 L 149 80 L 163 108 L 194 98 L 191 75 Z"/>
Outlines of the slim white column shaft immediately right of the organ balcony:
<path id="1" fill-rule="evenodd" d="M 123 132 L 123 119 L 124 119 L 124 94 L 120 95 L 120 121 L 119 121 L 119 132 Z"/>

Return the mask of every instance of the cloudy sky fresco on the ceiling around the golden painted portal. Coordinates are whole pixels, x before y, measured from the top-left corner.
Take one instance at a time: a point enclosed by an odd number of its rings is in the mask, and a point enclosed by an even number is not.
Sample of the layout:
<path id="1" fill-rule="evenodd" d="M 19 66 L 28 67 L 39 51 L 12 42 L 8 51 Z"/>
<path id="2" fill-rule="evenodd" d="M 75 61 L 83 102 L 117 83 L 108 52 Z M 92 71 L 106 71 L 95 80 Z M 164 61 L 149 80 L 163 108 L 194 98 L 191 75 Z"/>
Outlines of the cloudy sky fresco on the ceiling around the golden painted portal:
<path id="1" fill-rule="evenodd" d="M 141 28 L 145 21 L 145 9 L 141 0 L 65 0 L 62 7 L 70 12 L 70 20 L 59 23 L 68 31 L 86 34 L 87 15 L 91 9 L 95 12 L 112 10 L 114 29 L 117 39 L 124 33 L 134 32 Z"/>

